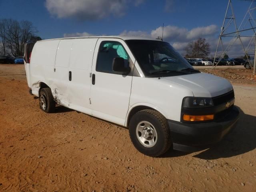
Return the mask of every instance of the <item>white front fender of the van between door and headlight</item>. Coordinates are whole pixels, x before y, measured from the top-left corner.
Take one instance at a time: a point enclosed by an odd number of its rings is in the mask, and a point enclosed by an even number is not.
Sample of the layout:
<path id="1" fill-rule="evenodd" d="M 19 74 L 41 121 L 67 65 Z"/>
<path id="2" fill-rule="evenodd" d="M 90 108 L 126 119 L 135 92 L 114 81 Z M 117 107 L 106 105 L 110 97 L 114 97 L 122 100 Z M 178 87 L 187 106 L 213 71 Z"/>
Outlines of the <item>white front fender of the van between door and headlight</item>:
<path id="1" fill-rule="evenodd" d="M 158 78 L 133 77 L 128 114 L 136 106 L 148 106 L 159 111 L 166 119 L 180 121 L 185 96 L 194 95 L 192 90 L 182 85 Z"/>

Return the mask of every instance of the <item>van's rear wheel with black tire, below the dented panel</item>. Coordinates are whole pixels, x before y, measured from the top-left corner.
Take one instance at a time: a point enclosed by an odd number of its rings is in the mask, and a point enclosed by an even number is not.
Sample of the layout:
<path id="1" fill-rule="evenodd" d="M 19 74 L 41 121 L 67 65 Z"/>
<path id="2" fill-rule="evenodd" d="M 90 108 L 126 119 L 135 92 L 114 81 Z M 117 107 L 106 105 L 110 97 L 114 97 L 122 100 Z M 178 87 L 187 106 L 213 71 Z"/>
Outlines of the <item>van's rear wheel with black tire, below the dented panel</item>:
<path id="1" fill-rule="evenodd" d="M 50 88 L 42 88 L 39 95 L 39 105 L 46 113 L 53 113 L 55 110 L 55 101 L 52 96 L 52 91 Z"/>

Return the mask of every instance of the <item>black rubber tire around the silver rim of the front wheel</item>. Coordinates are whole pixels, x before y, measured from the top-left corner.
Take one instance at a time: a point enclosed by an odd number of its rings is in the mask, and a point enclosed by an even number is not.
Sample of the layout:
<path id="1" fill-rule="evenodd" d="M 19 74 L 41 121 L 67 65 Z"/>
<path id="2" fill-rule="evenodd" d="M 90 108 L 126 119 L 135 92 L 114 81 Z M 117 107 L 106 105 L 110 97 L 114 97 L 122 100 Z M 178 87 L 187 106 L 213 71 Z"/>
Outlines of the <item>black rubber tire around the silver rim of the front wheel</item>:
<path id="1" fill-rule="evenodd" d="M 149 122 L 153 125 L 157 137 L 154 146 L 146 147 L 137 138 L 136 128 L 141 122 Z M 142 123 L 143 124 L 143 123 Z M 129 124 L 129 134 L 134 147 L 147 156 L 157 157 L 164 154 L 170 146 L 172 146 L 172 140 L 170 137 L 170 130 L 167 120 L 162 114 L 155 110 L 141 110 L 134 114 Z"/>

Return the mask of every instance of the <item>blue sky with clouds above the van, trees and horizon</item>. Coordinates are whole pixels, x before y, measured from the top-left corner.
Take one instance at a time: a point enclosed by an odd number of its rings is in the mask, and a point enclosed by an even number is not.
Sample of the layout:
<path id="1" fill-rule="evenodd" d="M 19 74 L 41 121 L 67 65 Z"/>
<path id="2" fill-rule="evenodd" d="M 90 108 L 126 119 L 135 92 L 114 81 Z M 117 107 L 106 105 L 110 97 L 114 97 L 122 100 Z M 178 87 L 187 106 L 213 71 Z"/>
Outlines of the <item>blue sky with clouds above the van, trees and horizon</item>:
<path id="1" fill-rule="evenodd" d="M 250 2 L 232 2 L 240 24 Z M 228 0 L 0 0 L 0 18 L 29 20 L 44 39 L 82 33 L 154 37 L 161 35 L 159 27 L 164 23 L 164 37 L 182 50 L 199 36 L 216 44 L 227 3 Z M 177 38 L 180 33 L 188 33 L 191 38 Z"/>

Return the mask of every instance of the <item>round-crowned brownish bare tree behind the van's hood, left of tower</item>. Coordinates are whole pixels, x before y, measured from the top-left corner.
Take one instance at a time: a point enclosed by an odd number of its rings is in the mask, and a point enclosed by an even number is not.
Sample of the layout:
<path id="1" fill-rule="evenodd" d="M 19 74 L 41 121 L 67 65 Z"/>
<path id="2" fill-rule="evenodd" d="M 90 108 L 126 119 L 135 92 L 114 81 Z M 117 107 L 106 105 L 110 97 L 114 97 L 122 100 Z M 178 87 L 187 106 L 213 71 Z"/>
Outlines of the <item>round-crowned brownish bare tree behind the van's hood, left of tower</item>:
<path id="1" fill-rule="evenodd" d="M 210 45 L 205 38 L 199 38 L 196 41 L 188 43 L 185 47 L 186 57 L 205 58 L 210 53 Z"/>

